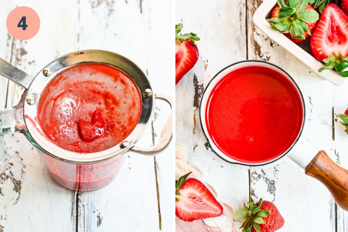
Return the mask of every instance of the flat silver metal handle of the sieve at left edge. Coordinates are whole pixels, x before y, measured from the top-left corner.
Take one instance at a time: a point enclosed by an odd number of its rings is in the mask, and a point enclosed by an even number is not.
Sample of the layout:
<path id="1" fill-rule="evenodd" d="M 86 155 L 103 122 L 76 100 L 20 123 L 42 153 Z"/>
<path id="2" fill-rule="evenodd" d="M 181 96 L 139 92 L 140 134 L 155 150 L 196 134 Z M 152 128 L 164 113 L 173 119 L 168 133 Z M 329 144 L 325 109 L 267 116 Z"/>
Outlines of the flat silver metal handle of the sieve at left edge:
<path id="1" fill-rule="evenodd" d="M 28 89 L 31 81 L 34 79 L 31 75 L 23 72 L 12 64 L 0 58 L 0 75 L 16 82 L 18 85 Z"/>

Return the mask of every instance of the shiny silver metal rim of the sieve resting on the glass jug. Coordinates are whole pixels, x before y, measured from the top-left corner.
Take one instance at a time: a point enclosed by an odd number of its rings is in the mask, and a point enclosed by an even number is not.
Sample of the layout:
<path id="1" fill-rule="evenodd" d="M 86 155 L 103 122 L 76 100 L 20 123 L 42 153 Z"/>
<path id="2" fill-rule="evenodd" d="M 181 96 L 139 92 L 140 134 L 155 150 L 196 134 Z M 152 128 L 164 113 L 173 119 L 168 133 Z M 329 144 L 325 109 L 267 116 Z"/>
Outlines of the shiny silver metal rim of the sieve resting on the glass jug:
<path id="1" fill-rule="evenodd" d="M 141 94 L 142 111 L 140 120 L 132 133 L 119 144 L 110 149 L 95 153 L 76 153 L 62 149 L 55 145 L 45 133 L 43 133 L 37 121 L 38 102 L 40 101 L 42 90 L 57 76 L 57 74 L 71 66 L 81 63 L 102 63 L 116 67 L 133 79 L 140 94 L 145 91 L 152 91 L 147 74 L 129 58 L 106 50 L 80 50 L 56 58 L 35 75 L 26 91 L 25 99 L 34 97 L 36 104 L 34 103 L 31 105 L 29 104 L 30 101 L 24 101 L 24 121 L 29 133 L 27 136 L 30 136 L 33 142 L 38 144 L 48 155 L 73 163 L 99 162 L 127 152 L 144 135 L 155 113 L 155 94 L 150 96 Z M 52 71 L 48 77 L 47 71 Z"/>

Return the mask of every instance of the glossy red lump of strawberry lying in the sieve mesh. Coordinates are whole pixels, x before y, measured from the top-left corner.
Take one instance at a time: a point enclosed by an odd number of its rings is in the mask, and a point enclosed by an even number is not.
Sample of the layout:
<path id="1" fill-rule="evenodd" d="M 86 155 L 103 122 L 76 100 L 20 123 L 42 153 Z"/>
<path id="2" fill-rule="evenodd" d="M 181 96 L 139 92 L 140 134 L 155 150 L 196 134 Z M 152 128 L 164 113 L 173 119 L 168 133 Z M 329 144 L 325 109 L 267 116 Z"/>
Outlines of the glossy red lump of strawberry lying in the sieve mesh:
<path id="1" fill-rule="evenodd" d="M 105 121 L 98 110 L 93 112 L 91 122 L 80 119 L 76 123 L 81 140 L 88 143 L 102 136 L 105 130 Z"/>

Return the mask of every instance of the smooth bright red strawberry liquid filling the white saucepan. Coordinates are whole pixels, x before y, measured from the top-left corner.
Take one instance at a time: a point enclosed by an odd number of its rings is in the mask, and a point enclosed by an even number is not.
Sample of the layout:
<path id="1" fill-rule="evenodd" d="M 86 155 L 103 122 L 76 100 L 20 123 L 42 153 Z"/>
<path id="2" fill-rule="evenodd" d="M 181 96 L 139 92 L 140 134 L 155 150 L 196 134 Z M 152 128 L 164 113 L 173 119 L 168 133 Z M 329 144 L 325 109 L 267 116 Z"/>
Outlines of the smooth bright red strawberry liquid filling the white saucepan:
<path id="1" fill-rule="evenodd" d="M 223 77 L 209 95 L 205 116 L 219 150 L 247 163 L 283 154 L 298 137 L 304 118 L 301 97 L 290 80 L 258 66 Z"/>

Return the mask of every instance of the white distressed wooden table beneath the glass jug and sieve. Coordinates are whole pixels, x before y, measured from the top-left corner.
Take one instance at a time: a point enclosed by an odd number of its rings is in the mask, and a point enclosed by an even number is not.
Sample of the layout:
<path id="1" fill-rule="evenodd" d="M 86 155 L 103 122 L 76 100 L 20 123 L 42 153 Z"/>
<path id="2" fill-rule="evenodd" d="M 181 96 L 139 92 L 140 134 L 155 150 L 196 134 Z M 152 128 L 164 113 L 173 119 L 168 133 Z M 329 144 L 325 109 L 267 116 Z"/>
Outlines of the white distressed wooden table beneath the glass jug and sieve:
<path id="1" fill-rule="evenodd" d="M 17 6 L 33 8 L 38 34 L 13 39 L 6 18 Z M 60 0 L 2 2 L 0 57 L 35 75 L 58 56 L 82 49 L 105 49 L 135 61 L 149 74 L 153 89 L 170 95 L 173 71 L 172 4 L 161 0 Z M 0 77 L 0 109 L 18 103 L 23 89 Z M 159 102 L 157 120 L 142 138 L 151 146 L 169 114 Z M 0 231 L 172 231 L 173 142 L 161 154 L 129 153 L 119 175 L 91 192 L 67 190 L 45 170 L 23 135 L 4 137 L 0 165 Z"/>

